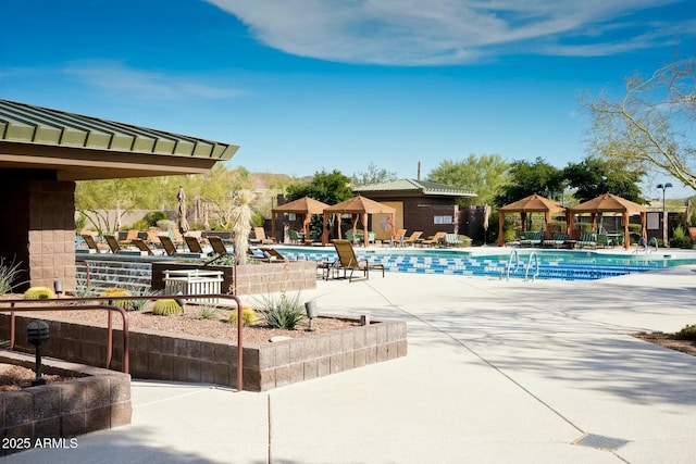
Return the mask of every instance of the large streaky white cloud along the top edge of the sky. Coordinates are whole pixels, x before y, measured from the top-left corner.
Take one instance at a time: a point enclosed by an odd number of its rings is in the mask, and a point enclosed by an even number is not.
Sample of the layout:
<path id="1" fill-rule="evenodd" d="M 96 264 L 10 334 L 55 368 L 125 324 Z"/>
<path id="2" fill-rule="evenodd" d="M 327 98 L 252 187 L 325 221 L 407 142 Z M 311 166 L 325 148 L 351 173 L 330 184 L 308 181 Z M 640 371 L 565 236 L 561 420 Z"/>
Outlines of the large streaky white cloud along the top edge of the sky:
<path id="1" fill-rule="evenodd" d="M 237 16 L 259 40 L 287 53 L 427 65 L 512 52 L 601 55 L 652 47 L 674 37 L 674 29 L 652 29 L 629 18 L 679 0 L 208 1 Z M 679 23 L 671 26 L 680 28 Z M 693 28 L 681 28 L 694 35 Z M 643 39 L 633 39 L 631 32 L 639 29 Z M 621 46 L 616 35 L 622 33 L 626 43 Z"/>

